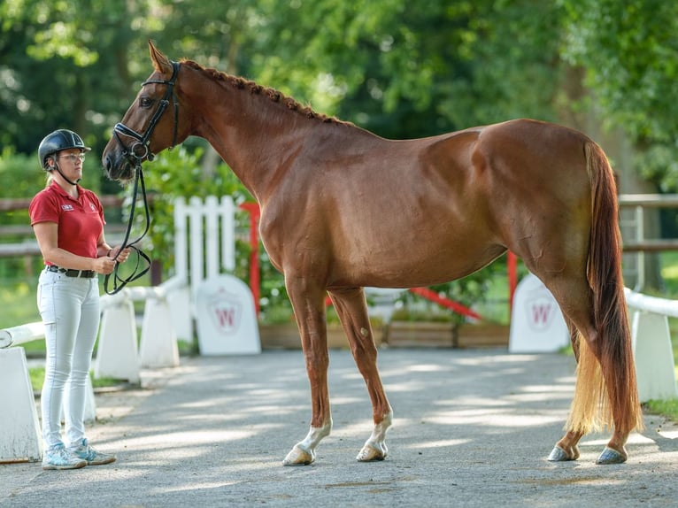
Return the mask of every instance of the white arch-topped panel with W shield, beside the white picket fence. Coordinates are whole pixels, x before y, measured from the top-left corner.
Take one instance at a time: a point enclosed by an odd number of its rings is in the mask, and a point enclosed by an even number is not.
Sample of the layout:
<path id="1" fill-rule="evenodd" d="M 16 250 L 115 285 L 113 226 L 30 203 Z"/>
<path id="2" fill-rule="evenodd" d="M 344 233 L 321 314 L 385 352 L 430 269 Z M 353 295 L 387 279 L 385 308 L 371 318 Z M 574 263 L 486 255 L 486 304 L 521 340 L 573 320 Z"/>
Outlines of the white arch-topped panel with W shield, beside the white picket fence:
<path id="1" fill-rule="evenodd" d="M 261 352 L 254 297 L 247 284 L 232 275 L 221 274 L 197 286 L 196 325 L 202 355 Z"/>

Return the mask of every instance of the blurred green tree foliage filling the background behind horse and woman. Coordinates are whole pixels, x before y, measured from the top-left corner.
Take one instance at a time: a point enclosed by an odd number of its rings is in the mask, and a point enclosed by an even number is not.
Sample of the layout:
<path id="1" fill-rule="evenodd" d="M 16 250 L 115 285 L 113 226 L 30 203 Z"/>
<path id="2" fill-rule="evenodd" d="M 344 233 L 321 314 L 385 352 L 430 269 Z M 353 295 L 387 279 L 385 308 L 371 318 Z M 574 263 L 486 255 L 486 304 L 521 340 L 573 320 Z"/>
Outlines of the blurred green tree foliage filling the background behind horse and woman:
<path id="1" fill-rule="evenodd" d="M 122 192 L 97 158 L 150 73 L 148 39 L 390 138 L 517 117 L 607 127 L 633 147 L 625 170 L 675 191 L 677 25 L 678 4 L 661 0 L 4 0 L 0 195 L 42 187 L 35 150 L 58 127 L 94 148 L 88 187 Z M 194 138 L 146 175 L 158 196 L 149 248 L 166 272 L 173 196 L 248 198 Z M 493 270 L 436 289 L 470 304 Z M 284 294 L 274 273 L 262 281 L 266 297 Z"/>

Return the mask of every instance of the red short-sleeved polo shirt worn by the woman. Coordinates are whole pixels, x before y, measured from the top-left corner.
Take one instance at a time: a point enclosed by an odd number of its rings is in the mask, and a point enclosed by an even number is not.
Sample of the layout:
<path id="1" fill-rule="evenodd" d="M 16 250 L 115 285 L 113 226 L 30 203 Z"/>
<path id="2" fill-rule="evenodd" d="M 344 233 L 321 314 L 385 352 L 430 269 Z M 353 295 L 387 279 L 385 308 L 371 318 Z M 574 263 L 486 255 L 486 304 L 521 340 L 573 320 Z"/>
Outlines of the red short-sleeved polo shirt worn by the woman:
<path id="1" fill-rule="evenodd" d="M 58 224 L 60 249 L 84 258 L 96 258 L 96 242 L 106 221 L 104 207 L 94 192 L 79 185 L 78 199 L 74 199 L 53 181 L 35 195 L 28 212 L 31 226 L 38 222 Z"/>

